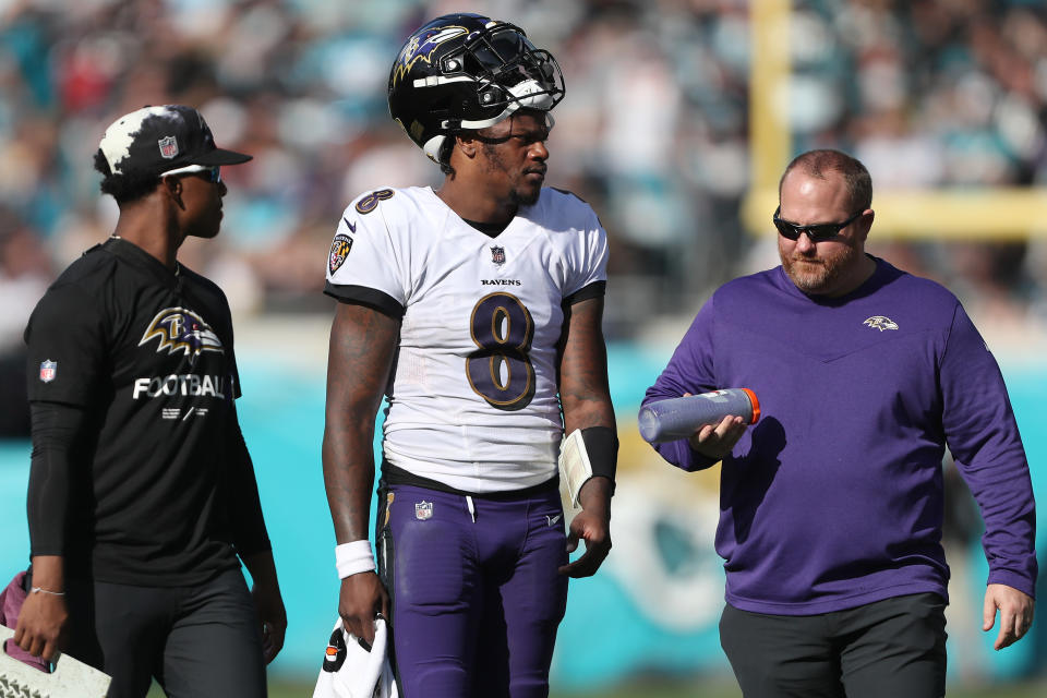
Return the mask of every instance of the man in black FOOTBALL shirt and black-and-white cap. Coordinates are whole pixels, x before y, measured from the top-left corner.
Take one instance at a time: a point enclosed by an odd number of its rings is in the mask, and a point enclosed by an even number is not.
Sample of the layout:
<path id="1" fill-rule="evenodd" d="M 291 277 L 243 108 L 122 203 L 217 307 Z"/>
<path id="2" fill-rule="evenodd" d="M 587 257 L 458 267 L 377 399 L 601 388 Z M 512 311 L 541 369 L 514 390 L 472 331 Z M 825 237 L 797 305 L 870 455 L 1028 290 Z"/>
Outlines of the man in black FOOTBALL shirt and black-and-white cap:
<path id="1" fill-rule="evenodd" d="M 95 156 L 116 230 L 26 328 L 33 590 L 15 641 L 105 671 L 109 696 L 145 696 L 153 677 L 171 696 L 264 696 L 284 643 L 229 305 L 176 258 L 218 234 L 219 167 L 249 159 L 189 107 L 118 119 Z"/>

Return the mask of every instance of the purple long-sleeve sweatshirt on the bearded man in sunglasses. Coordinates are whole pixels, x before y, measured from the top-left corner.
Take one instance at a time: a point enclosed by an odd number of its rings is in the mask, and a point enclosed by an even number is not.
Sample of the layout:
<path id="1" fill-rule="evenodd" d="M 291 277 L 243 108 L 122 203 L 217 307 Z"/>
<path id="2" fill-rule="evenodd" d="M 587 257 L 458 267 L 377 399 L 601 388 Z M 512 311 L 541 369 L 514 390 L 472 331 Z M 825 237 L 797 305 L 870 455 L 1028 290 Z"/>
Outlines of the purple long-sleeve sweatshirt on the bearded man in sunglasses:
<path id="1" fill-rule="evenodd" d="M 946 445 L 985 519 L 988 581 L 1034 593 L 1033 490 L 999 366 L 952 293 L 876 263 L 842 298 L 806 296 L 781 267 L 724 285 L 645 397 L 759 399 L 720 474 L 715 546 L 738 609 L 948 598 Z M 655 448 L 684 470 L 713 465 L 686 440 Z"/>

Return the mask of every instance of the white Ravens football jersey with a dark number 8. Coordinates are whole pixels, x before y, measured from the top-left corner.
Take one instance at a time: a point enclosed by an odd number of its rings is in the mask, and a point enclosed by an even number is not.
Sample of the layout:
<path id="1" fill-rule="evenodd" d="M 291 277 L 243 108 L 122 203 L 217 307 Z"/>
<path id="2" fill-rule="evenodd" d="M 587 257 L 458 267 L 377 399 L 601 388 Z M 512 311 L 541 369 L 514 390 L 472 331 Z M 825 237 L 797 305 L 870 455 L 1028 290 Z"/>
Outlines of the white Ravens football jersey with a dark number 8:
<path id="1" fill-rule="evenodd" d="M 563 435 L 562 304 L 602 294 L 606 264 L 592 208 L 554 189 L 495 238 L 428 186 L 381 189 L 351 203 L 330 248 L 326 292 L 402 312 L 386 389 L 386 460 L 466 492 L 551 479 Z"/>

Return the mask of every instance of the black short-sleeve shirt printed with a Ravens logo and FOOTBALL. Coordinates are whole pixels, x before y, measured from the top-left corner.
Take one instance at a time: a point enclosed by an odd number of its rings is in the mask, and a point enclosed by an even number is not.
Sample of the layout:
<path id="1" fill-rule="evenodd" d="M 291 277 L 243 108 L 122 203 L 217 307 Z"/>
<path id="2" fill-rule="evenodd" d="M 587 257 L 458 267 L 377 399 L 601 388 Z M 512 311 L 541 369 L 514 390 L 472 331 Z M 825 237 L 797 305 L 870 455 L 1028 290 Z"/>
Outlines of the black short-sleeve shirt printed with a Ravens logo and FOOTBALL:
<path id="1" fill-rule="evenodd" d="M 67 574 L 180 586 L 238 566 L 222 492 L 239 382 L 221 290 L 113 238 L 55 281 L 25 339 L 29 401 L 91 422 L 71 454 Z"/>

